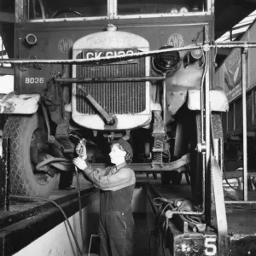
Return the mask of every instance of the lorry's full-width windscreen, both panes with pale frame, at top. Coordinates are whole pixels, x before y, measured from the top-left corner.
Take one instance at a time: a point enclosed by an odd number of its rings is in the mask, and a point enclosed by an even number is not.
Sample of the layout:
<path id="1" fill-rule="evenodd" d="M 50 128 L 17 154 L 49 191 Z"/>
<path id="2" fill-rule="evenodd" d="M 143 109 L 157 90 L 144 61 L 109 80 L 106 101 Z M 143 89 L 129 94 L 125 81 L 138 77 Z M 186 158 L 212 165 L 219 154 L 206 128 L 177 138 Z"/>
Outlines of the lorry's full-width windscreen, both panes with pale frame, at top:
<path id="1" fill-rule="evenodd" d="M 24 17 L 31 22 L 43 22 L 54 21 L 53 19 L 61 21 L 209 15 L 210 9 L 208 7 L 211 1 L 24 0 L 26 3 Z M 24 20 L 23 17 L 20 17 L 20 20 Z"/>

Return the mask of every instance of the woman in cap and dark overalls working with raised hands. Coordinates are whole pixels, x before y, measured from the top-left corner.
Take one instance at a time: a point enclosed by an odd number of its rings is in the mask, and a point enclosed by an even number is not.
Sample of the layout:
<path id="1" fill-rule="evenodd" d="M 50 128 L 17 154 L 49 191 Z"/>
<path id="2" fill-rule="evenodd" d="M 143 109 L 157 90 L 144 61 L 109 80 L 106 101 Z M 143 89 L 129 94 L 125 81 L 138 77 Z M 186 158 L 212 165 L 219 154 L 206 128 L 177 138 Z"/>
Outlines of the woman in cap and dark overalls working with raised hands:
<path id="1" fill-rule="evenodd" d="M 96 170 L 85 161 L 85 146 L 79 144 L 78 147 L 84 147 L 84 155 L 75 158 L 74 165 L 96 188 L 101 189 L 100 256 L 131 256 L 134 233 L 131 199 L 136 182 L 135 174 L 128 166 L 133 156 L 131 145 L 123 138 L 112 143 L 109 156 L 115 166 Z"/>

